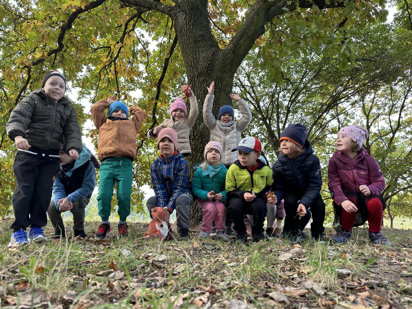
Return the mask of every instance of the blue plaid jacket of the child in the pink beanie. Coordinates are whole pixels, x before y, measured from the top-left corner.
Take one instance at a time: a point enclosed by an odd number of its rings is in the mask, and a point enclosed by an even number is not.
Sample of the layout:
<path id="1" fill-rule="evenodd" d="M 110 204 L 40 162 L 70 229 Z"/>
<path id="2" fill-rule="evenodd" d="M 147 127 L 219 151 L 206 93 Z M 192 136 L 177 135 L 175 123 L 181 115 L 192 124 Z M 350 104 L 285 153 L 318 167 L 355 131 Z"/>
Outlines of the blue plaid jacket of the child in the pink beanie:
<path id="1" fill-rule="evenodd" d="M 150 166 L 150 177 L 157 197 L 157 206 L 167 206 L 171 213 L 180 194 L 192 193 L 189 166 L 178 151 L 170 158 L 164 158 L 162 155 L 157 157 Z"/>

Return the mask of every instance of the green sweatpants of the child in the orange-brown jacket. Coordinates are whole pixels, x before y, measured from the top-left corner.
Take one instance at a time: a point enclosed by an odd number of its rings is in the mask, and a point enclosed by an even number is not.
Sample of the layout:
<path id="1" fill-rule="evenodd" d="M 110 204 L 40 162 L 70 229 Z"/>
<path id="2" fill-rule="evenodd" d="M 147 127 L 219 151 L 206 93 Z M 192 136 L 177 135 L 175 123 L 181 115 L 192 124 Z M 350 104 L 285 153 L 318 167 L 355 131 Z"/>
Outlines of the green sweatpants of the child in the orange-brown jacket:
<path id="1" fill-rule="evenodd" d="M 99 194 L 97 206 L 102 221 L 108 221 L 112 209 L 113 188 L 117 183 L 117 214 L 120 221 L 130 215 L 130 195 L 133 178 L 130 157 L 106 157 L 100 166 Z"/>

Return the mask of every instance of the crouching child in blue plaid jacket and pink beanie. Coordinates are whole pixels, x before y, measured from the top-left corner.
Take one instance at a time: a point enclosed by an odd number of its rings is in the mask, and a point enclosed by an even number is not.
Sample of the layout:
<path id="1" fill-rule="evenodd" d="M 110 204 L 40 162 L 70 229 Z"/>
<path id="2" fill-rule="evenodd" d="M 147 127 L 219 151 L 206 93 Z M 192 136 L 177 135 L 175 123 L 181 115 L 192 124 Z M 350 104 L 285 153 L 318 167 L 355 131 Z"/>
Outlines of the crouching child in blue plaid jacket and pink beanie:
<path id="1" fill-rule="evenodd" d="M 159 157 L 150 167 L 155 196 L 147 200 L 146 206 L 152 218 L 153 207 L 165 207 L 169 215 L 176 209 L 176 222 L 181 239 L 189 237 L 189 211 L 193 204 L 190 188 L 189 166 L 183 155 L 177 150 L 178 135 L 175 129 L 164 128 L 157 136 Z M 153 219 L 153 218 L 152 218 Z M 169 218 L 164 219 L 169 222 Z"/>

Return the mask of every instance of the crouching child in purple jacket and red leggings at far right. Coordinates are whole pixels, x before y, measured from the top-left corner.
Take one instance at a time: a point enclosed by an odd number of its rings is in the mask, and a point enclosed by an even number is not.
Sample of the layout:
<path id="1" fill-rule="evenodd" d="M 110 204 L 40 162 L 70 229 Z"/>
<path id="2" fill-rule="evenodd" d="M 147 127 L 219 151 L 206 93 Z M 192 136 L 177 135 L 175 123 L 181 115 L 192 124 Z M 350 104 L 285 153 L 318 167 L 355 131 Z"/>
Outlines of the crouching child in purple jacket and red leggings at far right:
<path id="1" fill-rule="evenodd" d="M 342 207 L 340 232 L 334 237 L 336 243 L 346 243 L 352 236 L 356 213 L 365 213 L 369 223 L 369 240 L 391 246 L 381 234 L 383 218 L 382 201 L 379 194 L 385 181 L 379 164 L 362 148 L 368 138 L 362 126 L 345 126 L 337 134 L 337 150 L 329 160 L 328 186 L 333 201 Z"/>

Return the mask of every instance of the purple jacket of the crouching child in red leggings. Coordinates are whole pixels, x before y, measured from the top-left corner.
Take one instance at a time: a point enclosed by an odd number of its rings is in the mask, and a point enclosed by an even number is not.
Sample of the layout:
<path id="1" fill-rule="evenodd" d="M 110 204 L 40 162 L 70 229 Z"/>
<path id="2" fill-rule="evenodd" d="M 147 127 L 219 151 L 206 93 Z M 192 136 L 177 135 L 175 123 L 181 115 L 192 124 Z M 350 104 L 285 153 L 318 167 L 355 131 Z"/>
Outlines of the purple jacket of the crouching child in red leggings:
<path id="1" fill-rule="evenodd" d="M 360 193 L 360 185 L 367 185 L 372 195 L 379 195 L 385 188 L 385 180 L 378 162 L 364 148 L 355 161 L 340 151 L 335 151 L 328 165 L 328 187 L 332 199 L 340 206 L 346 192 Z"/>

